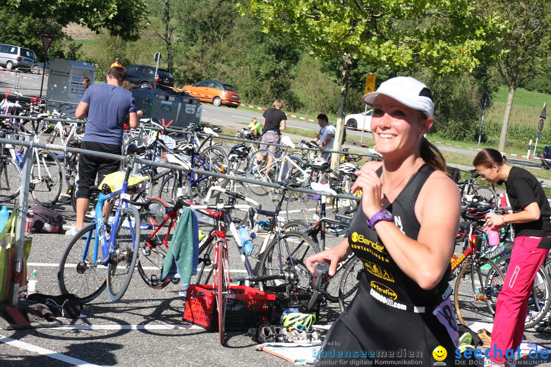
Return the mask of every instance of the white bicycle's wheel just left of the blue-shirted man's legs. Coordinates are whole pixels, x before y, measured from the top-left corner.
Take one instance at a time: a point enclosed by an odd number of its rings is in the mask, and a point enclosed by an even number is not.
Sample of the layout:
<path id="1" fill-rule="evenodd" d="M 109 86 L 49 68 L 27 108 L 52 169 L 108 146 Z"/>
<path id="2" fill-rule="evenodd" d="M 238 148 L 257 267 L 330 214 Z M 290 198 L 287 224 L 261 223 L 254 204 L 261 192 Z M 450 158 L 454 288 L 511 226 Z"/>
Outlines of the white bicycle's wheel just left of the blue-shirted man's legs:
<path id="1" fill-rule="evenodd" d="M 38 152 L 31 168 L 30 191 L 36 204 L 52 207 L 61 195 L 63 174 L 60 161 L 47 150 Z"/>

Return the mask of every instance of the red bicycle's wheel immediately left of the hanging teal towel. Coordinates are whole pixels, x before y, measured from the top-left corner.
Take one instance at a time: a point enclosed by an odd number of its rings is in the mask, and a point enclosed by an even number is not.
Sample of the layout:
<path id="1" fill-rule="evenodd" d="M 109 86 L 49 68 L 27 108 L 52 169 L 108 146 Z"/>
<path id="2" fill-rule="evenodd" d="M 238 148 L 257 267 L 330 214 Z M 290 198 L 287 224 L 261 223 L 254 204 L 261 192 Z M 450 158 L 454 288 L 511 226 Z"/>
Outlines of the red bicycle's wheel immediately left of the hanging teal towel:
<path id="1" fill-rule="evenodd" d="M 171 279 L 161 281 L 161 269 L 169 249 L 171 234 L 176 229 L 176 216 L 167 217 L 169 207 L 161 199 L 152 198 L 151 203 L 140 213 L 142 229 L 138 254 L 138 273 L 145 284 L 153 289 L 161 289 Z M 167 221 L 165 221 L 165 218 Z"/>

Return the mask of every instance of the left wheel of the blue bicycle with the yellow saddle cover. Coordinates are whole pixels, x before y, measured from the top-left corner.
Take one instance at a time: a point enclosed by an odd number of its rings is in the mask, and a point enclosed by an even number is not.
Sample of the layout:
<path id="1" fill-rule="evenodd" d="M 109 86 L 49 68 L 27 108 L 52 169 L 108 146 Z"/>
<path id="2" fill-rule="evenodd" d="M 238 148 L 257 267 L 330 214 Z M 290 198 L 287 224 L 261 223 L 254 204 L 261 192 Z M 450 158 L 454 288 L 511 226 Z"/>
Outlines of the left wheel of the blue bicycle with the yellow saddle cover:
<path id="1" fill-rule="evenodd" d="M 62 294 L 72 293 L 81 303 L 98 297 L 106 287 L 101 259 L 94 262 L 96 224 L 88 224 L 71 238 L 57 269 L 57 283 Z M 101 256 L 101 255 L 100 255 Z"/>

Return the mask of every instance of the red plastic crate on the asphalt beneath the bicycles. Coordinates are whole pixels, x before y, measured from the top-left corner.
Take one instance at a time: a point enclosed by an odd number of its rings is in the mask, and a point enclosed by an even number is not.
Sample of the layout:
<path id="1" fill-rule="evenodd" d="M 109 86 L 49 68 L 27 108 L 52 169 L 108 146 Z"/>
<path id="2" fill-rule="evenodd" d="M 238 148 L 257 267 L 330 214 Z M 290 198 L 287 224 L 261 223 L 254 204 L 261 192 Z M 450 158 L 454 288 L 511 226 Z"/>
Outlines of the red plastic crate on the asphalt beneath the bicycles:
<path id="1" fill-rule="evenodd" d="M 212 284 L 192 284 L 187 290 L 183 320 L 218 330 L 218 309 Z M 226 297 L 226 330 L 248 330 L 268 325 L 276 295 L 246 286 L 232 286 Z"/>

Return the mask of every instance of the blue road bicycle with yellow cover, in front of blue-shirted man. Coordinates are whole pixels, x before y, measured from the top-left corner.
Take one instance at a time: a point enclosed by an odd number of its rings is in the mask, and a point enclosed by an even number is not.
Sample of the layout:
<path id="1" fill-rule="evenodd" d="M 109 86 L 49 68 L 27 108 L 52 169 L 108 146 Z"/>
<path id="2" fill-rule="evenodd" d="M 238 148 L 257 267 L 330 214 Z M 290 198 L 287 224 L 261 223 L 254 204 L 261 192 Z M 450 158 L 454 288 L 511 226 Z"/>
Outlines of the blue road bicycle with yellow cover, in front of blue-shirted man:
<path id="1" fill-rule="evenodd" d="M 94 221 L 80 229 L 63 252 L 57 272 L 61 293 L 73 293 L 82 303 L 95 299 L 105 288 L 112 300 L 125 294 L 138 259 L 141 230 L 139 212 L 131 206 L 140 203 L 131 199 L 131 193 L 145 187 L 143 178 L 136 178 L 135 185 L 129 184 L 129 179 L 135 157 L 142 150 L 129 150 L 132 164 L 128 165 L 122 187 L 103 183 L 101 188 L 91 188 L 101 190 Z M 115 198 L 118 205 L 110 225 L 104 221 L 103 208 L 105 202 Z"/>

